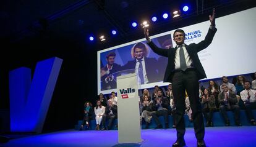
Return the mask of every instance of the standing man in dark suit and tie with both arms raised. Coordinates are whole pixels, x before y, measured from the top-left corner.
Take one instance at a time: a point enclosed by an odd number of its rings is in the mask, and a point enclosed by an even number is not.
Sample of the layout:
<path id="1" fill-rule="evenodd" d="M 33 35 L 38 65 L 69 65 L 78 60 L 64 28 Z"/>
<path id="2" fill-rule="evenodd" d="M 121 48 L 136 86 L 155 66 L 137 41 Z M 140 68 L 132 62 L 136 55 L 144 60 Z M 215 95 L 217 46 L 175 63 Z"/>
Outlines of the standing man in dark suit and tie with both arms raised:
<path id="1" fill-rule="evenodd" d="M 209 16 L 211 26 L 208 30 L 205 40 L 198 44 L 184 44 L 185 33 L 183 30 L 176 30 L 173 34 L 173 39 L 177 46 L 175 48 L 160 49 L 149 38 L 147 29 L 144 29 L 145 38 L 148 41 L 148 45 L 158 55 L 168 57 L 168 65 L 164 74 L 164 82 L 172 82 L 173 95 L 176 105 L 176 130 L 177 140 L 173 146 L 185 146 L 184 141 L 185 124 L 184 124 L 184 105 L 185 105 L 185 91 L 189 95 L 190 106 L 193 112 L 193 121 L 195 136 L 197 138 L 197 146 L 205 146 L 203 140 L 205 135 L 205 127 L 203 124 L 202 108 L 199 101 L 199 89 L 198 80 L 203 79 L 206 76 L 203 66 L 200 63 L 197 53 L 200 50 L 207 48 L 213 36 L 216 33 L 215 28 L 215 9 L 213 14 Z"/>

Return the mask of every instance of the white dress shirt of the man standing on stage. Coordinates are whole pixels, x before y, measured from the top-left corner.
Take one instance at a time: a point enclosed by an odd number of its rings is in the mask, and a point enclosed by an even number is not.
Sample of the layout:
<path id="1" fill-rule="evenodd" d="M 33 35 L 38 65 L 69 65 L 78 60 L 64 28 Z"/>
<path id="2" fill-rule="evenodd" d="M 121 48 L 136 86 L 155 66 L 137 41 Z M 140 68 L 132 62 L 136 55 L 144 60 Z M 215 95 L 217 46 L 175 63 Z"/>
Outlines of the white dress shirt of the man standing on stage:
<path id="1" fill-rule="evenodd" d="M 175 70 L 178 70 L 181 68 L 181 63 L 179 60 L 179 50 L 181 49 L 181 47 L 179 46 L 176 46 L 176 47 L 177 47 L 177 50 L 175 54 L 174 64 L 175 64 Z M 189 57 L 189 53 L 187 52 L 185 44 L 182 44 L 182 49 L 184 50 L 184 56 L 185 56 L 187 68 L 191 68 L 192 59 Z"/>

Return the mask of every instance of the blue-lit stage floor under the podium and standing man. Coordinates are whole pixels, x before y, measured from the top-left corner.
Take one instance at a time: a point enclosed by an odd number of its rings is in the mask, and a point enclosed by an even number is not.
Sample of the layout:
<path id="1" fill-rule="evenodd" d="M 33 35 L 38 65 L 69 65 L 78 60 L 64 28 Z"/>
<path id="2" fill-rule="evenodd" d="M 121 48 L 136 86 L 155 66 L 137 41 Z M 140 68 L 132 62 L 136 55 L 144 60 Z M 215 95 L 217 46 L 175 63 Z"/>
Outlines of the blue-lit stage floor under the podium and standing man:
<path id="1" fill-rule="evenodd" d="M 176 140 L 175 129 L 148 129 L 142 130 L 142 143 L 140 145 L 118 145 L 117 130 L 108 131 L 76 131 L 65 130 L 61 132 L 33 135 L 16 138 L 0 146 L 12 147 L 38 147 L 38 146 L 171 146 Z M 196 146 L 193 128 L 186 129 L 185 140 L 187 146 Z M 205 143 L 207 146 L 256 146 L 256 127 L 207 127 L 205 129 Z"/>

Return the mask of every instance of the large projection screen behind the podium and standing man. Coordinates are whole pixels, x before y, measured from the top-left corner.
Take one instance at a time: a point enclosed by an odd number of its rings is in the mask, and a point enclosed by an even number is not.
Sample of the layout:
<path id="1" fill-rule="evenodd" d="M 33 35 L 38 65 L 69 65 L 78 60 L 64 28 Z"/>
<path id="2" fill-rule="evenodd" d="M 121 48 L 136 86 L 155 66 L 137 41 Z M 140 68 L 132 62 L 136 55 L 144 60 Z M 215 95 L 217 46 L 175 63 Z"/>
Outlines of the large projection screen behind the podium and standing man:
<path id="1" fill-rule="evenodd" d="M 247 9 L 235 14 L 216 18 L 218 31 L 207 49 L 198 52 L 200 61 L 207 74 L 207 79 L 221 76 L 234 76 L 239 74 L 254 73 L 256 71 L 256 8 Z M 210 21 L 181 28 L 186 33 L 186 44 L 198 43 L 205 38 Z M 168 49 L 175 47 L 173 41 L 174 30 L 150 36 L 158 47 Z M 136 60 L 132 58 L 131 50 L 138 42 L 145 43 L 145 38 L 127 42 L 119 46 L 100 50 L 97 53 L 98 60 L 98 93 L 111 93 L 116 91 L 115 80 L 117 72 L 121 70 L 135 69 Z M 148 47 L 148 46 L 147 46 Z M 106 68 L 108 54 L 116 54 L 112 71 Z M 155 85 L 163 86 L 163 74 L 167 64 L 167 58 L 156 55 L 150 47 L 145 58 L 145 71 L 148 81 L 142 84 L 140 89 L 151 88 Z M 110 67 L 109 67 L 110 68 Z M 110 79 L 106 77 L 111 77 Z"/>

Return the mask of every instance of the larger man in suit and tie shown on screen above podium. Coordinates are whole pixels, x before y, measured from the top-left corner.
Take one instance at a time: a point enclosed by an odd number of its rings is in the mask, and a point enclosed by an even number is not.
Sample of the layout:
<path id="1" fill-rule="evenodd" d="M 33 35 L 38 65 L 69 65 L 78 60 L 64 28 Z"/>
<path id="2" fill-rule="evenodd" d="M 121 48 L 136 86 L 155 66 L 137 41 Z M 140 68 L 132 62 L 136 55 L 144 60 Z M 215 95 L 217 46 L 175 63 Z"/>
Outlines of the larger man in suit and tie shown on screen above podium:
<path id="1" fill-rule="evenodd" d="M 135 60 L 128 61 L 122 66 L 122 70 L 135 69 L 139 76 L 140 84 L 158 82 L 158 62 L 155 58 L 148 58 L 148 47 L 146 44 L 139 42 L 132 47 L 132 58 Z"/>

